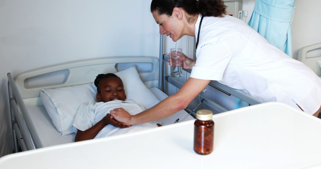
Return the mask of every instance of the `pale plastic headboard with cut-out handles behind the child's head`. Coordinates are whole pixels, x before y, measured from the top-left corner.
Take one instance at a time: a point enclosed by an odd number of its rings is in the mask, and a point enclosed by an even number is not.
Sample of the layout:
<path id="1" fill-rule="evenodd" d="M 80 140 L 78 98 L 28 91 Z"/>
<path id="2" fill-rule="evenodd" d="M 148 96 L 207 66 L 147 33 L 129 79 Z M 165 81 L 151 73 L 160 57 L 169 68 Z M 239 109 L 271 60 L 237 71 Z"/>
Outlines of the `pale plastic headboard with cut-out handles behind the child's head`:
<path id="1" fill-rule="evenodd" d="M 150 63 L 151 70 L 139 72 L 144 84 L 151 87 L 158 87 L 158 71 L 159 62 L 155 57 L 107 57 L 100 59 L 81 60 L 75 62 L 69 62 L 45 68 L 38 68 L 27 72 L 22 72 L 15 76 L 14 81 L 18 87 L 18 90 L 22 96 L 22 99 L 26 102 L 28 100 L 35 100 L 40 95 L 40 89 L 42 88 L 57 88 L 73 85 L 81 85 L 86 83 L 92 83 L 96 76 L 100 73 L 116 73 L 117 64 L 119 63 Z M 128 68 L 131 65 L 128 66 Z M 139 64 L 138 64 L 139 66 Z M 137 67 L 137 65 L 136 65 Z M 63 83 L 45 86 L 30 87 L 26 85 L 26 80 L 32 77 L 67 70 L 68 75 Z M 36 99 L 37 100 L 37 99 Z M 38 98 L 39 100 L 39 98 Z M 35 102 L 35 101 L 31 101 Z M 38 101 L 36 101 L 38 102 Z"/>

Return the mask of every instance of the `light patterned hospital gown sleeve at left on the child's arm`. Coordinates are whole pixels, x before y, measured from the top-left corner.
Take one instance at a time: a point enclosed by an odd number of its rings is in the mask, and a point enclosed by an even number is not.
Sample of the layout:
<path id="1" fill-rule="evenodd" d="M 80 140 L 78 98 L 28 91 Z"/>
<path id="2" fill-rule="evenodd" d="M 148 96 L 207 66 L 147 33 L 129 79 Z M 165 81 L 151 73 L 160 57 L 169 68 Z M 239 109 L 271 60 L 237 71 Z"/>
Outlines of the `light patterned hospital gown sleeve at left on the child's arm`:
<path id="1" fill-rule="evenodd" d="M 95 118 L 93 108 L 95 103 L 96 102 L 91 102 L 89 104 L 82 104 L 79 106 L 73 124 L 73 126 L 78 130 L 85 131 L 92 127 Z"/>

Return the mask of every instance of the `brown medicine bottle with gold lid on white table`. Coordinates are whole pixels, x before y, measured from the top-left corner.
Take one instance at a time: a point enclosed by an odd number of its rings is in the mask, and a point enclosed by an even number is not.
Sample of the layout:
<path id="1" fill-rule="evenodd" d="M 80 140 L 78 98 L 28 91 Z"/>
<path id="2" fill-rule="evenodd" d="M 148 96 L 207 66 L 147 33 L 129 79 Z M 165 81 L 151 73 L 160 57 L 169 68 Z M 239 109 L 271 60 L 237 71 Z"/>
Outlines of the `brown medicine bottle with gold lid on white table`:
<path id="1" fill-rule="evenodd" d="M 214 122 L 213 112 L 198 110 L 194 122 L 194 151 L 197 154 L 207 155 L 213 151 Z"/>

